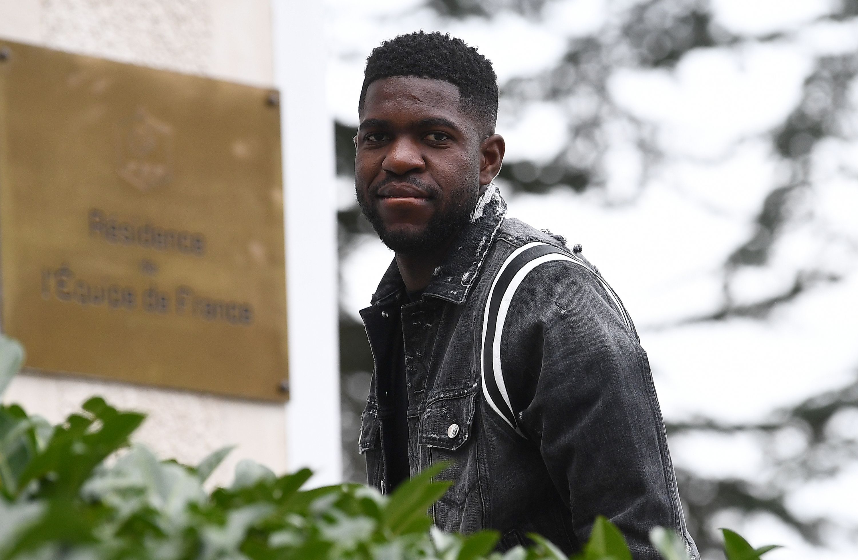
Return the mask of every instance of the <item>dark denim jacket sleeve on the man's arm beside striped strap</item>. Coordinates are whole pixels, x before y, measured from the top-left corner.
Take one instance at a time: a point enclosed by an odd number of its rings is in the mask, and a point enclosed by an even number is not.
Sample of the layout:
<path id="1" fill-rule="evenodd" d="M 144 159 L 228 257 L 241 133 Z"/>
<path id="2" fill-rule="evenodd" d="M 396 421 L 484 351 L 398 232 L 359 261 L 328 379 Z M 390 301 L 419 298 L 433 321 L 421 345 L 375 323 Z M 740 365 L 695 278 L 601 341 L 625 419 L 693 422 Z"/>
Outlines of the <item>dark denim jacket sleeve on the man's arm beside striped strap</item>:
<path id="1" fill-rule="evenodd" d="M 620 304 L 621 305 L 621 304 Z M 585 542 L 596 515 L 636 560 L 661 558 L 652 527 L 687 536 L 650 366 L 595 274 L 565 261 L 517 289 L 501 341 L 518 428 L 539 447 Z"/>

